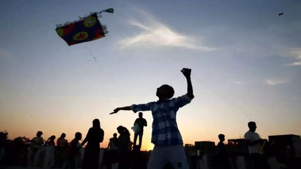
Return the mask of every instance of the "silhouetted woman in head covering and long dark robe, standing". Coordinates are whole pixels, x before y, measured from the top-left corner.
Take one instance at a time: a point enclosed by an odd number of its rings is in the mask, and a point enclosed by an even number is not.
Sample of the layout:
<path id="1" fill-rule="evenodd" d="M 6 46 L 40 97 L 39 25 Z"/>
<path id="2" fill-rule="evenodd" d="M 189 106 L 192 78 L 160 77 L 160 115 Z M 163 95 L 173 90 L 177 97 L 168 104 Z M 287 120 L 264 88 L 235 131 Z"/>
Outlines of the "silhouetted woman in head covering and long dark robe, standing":
<path id="1" fill-rule="evenodd" d="M 81 143 L 81 146 L 85 147 L 85 154 L 83 159 L 83 169 L 96 169 L 98 168 L 100 146 L 99 143 L 103 141 L 104 131 L 100 128 L 100 121 L 98 119 L 93 120 L 93 127 L 91 127 L 87 133 L 86 138 Z"/>

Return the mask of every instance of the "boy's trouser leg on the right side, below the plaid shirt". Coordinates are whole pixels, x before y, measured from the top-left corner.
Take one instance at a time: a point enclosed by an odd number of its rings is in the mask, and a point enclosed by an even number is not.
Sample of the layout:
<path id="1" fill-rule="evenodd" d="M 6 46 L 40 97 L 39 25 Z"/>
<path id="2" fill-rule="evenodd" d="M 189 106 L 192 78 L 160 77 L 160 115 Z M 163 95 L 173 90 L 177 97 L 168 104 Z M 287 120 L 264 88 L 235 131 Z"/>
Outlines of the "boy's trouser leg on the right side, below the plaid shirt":
<path id="1" fill-rule="evenodd" d="M 183 145 L 170 145 L 167 152 L 167 160 L 172 163 L 174 168 L 189 169 Z"/>

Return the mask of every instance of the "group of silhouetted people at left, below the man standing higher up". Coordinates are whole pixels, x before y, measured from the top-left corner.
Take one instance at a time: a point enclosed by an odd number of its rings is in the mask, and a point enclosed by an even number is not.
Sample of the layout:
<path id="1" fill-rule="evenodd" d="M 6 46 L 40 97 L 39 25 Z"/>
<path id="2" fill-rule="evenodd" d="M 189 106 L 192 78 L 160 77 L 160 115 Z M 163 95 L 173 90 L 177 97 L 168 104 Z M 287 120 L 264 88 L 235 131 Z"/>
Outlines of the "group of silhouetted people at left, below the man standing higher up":
<path id="1" fill-rule="evenodd" d="M 118 126 L 117 131 L 119 133 L 119 137 L 117 138 L 117 134 L 114 133 L 113 137 L 110 138 L 110 143 L 108 149 L 115 149 L 118 152 L 119 168 L 122 168 L 122 165 L 127 166 L 127 153 L 130 150 L 129 142 L 130 142 L 130 133 L 126 127 Z M 37 136 L 34 137 L 31 142 L 31 164 L 33 165 L 33 159 L 37 151 L 39 150 L 39 145 L 55 145 L 55 136 L 51 136 L 45 143 L 42 137 L 43 132 L 38 131 Z M 79 141 L 82 139 L 82 134 L 80 132 L 75 133 L 75 138 L 68 143 L 65 139 L 66 134 L 62 133 L 61 137 L 57 139 L 57 149 L 56 149 L 56 157 L 58 160 L 66 160 L 65 169 L 67 168 L 75 168 L 75 157 L 79 155 L 79 150 L 82 146 L 85 146 L 85 153 L 82 163 L 83 169 L 93 169 L 98 168 L 99 165 L 99 154 L 100 154 L 100 143 L 103 141 L 104 131 L 100 128 L 100 121 L 98 119 L 93 120 L 93 126 L 88 130 L 88 133 L 82 143 Z M 67 148 L 67 150 L 66 150 Z M 62 153 L 66 150 L 66 153 Z M 63 156 L 62 156 L 63 155 Z M 123 162 L 122 162 L 123 161 Z M 126 167 L 125 167 L 126 168 Z"/>

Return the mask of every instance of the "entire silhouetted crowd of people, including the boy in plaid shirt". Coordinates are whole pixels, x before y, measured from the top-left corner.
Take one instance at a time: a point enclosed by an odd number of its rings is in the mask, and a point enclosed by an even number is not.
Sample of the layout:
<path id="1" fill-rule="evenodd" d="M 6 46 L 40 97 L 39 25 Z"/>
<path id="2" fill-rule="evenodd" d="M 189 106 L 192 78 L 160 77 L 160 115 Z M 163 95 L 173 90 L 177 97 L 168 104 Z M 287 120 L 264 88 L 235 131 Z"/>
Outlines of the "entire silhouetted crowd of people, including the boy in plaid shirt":
<path id="1" fill-rule="evenodd" d="M 139 118 L 134 122 L 132 129 L 134 130 L 134 142 L 130 141 L 130 133 L 124 126 L 118 126 L 117 134 L 114 133 L 113 137 L 109 139 L 107 150 L 103 155 L 103 165 L 108 169 L 112 164 L 118 163 L 119 169 L 161 169 L 161 168 L 184 168 L 189 169 L 187 160 L 187 153 L 183 146 L 182 135 L 178 129 L 176 115 L 180 108 L 186 106 L 194 99 L 193 87 L 191 82 L 191 69 L 183 68 L 181 70 L 187 81 L 187 94 L 174 97 L 174 88 L 169 85 L 162 85 L 157 89 L 156 96 L 158 101 L 149 102 L 146 104 L 133 104 L 125 107 L 118 107 L 110 114 L 115 114 L 120 110 L 139 112 Z M 152 139 L 151 142 L 155 147 L 150 154 L 149 158 L 143 157 L 139 152 L 142 143 L 143 127 L 147 126 L 147 122 L 142 118 L 142 112 L 151 111 L 153 116 L 152 124 Z M 269 169 L 267 157 L 264 155 L 266 147 L 266 140 L 259 137 L 255 132 L 256 123 L 248 123 L 249 130 L 245 133 L 245 143 L 248 145 L 250 157 L 254 163 L 255 169 Z M 32 158 L 38 151 L 39 145 L 44 144 L 42 132 L 38 131 L 37 137 L 31 140 Z M 93 120 L 93 126 L 88 130 L 88 133 L 82 143 L 80 132 L 75 133 L 75 138 L 70 143 L 65 140 L 66 134 L 62 134 L 57 139 L 57 150 L 55 152 L 56 161 L 64 161 L 66 159 L 65 168 L 75 168 L 75 157 L 79 155 L 79 149 L 87 143 L 84 152 L 82 163 L 83 169 L 96 169 L 98 168 L 100 143 L 104 138 L 104 131 L 100 128 L 98 119 Z M 139 143 L 136 145 L 137 137 Z M 218 143 L 218 160 L 217 168 L 230 168 L 229 154 L 223 141 L 225 135 L 220 134 L 220 142 Z M 45 142 L 45 145 L 55 145 L 55 136 L 51 136 Z M 148 159 L 148 161 L 145 161 Z M 298 158 L 297 160 L 299 160 Z M 33 161 L 31 161 L 31 165 Z M 301 167 L 300 167 L 301 168 Z M 300 169 L 298 168 L 298 169 Z"/>

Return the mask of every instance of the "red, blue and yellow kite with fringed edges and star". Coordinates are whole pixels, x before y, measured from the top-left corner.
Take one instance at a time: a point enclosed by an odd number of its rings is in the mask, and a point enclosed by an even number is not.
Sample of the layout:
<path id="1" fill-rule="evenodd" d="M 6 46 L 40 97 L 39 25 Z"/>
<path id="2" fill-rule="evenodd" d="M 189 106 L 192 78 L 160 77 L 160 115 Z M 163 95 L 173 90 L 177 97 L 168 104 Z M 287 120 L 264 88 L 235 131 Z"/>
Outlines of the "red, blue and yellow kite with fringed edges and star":
<path id="1" fill-rule="evenodd" d="M 106 25 L 98 20 L 103 12 L 113 14 L 114 9 L 90 13 L 88 16 L 79 17 L 77 21 L 57 24 L 55 31 L 69 46 L 103 38 L 108 34 Z"/>

